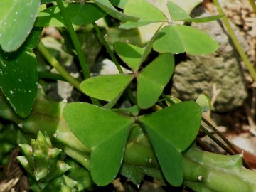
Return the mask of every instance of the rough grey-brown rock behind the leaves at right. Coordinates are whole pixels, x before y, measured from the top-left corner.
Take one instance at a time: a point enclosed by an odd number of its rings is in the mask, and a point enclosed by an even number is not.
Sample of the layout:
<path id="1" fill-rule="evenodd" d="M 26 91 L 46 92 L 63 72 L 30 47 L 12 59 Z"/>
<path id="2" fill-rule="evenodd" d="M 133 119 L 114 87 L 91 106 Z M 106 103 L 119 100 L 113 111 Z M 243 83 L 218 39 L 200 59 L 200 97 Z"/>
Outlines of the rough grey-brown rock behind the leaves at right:
<path id="1" fill-rule="evenodd" d="M 211 55 L 188 55 L 188 60 L 176 65 L 171 94 L 181 100 L 196 100 L 205 92 L 212 97 L 216 112 L 234 110 L 247 97 L 238 53 L 218 21 L 192 23 L 192 26 L 213 36 L 220 48 Z M 242 45 L 246 48 L 245 40 Z"/>

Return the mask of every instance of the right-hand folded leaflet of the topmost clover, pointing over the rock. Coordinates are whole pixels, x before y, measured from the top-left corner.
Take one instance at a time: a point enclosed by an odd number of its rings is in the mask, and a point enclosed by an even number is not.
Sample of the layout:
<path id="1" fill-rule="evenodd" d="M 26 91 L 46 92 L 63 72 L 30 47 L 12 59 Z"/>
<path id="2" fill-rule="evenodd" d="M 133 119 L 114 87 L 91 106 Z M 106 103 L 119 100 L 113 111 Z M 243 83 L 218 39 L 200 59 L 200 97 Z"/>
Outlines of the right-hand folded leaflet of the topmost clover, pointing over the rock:
<path id="1" fill-rule="evenodd" d="M 191 18 L 186 11 L 184 11 L 180 6 L 177 4 L 174 4 L 171 1 L 167 2 L 167 7 L 169 10 L 169 13 L 171 15 L 171 18 L 174 21 L 188 21 L 188 22 L 210 22 L 215 21 L 219 18 L 222 18 L 223 15 L 217 15 L 217 16 L 207 16 L 207 17 L 199 17 L 199 18 Z"/>

